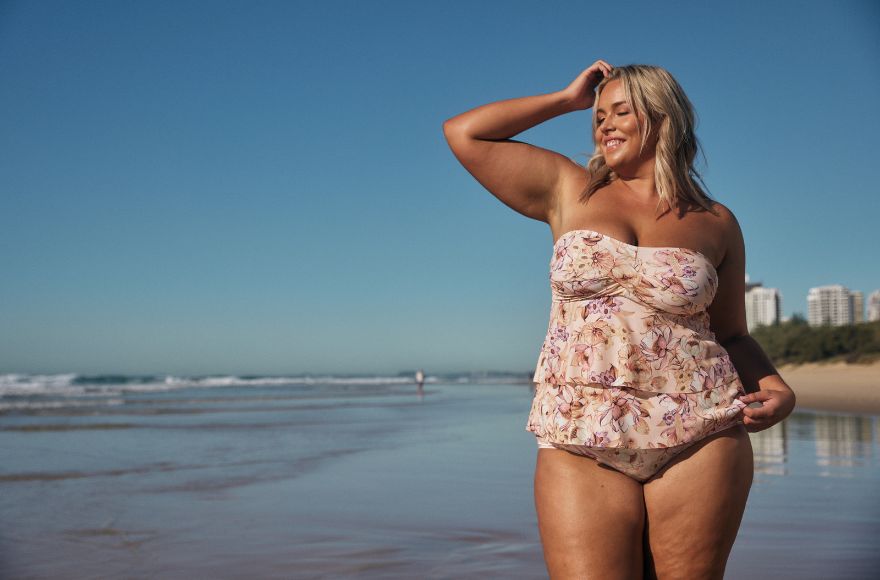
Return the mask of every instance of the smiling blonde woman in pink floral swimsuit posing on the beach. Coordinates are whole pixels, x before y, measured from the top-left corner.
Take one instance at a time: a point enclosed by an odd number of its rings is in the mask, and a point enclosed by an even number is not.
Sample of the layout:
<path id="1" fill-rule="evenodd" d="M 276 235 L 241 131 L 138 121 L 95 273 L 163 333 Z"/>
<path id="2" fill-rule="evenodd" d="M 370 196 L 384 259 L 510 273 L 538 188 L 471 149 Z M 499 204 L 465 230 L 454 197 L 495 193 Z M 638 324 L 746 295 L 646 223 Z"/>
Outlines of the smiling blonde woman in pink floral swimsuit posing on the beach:
<path id="1" fill-rule="evenodd" d="M 594 104 L 586 168 L 511 139 Z M 662 68 L 599 60 L 561 91 L 443 130 L 555 240 L 526 426 L 551 578 L 722 578 L 752 483 L 747 431 L 795 397 L 748 335 L 742 232 L 698 184 L 684 91 Z"/>

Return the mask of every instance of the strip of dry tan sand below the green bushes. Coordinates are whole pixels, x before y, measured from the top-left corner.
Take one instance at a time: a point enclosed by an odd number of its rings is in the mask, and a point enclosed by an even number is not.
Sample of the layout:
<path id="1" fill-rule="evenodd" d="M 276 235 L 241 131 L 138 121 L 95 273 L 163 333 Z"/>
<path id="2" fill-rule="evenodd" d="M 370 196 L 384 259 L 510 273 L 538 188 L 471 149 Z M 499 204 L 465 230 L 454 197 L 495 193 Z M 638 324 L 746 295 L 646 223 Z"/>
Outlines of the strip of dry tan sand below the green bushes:
<path id="1" fill-rule="evenodd" d="M 797 408 L 880 414 L 880 362 L 806 363 L 777 368 Z"/>

